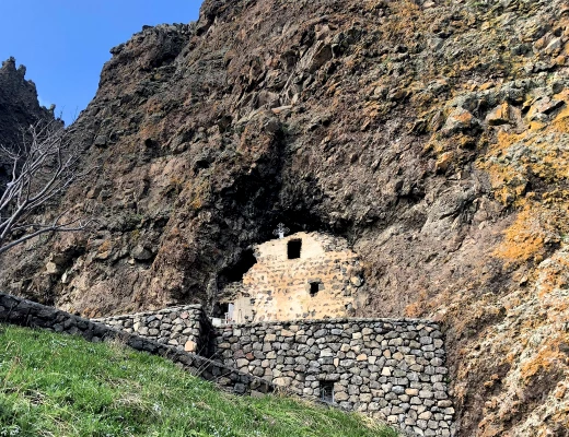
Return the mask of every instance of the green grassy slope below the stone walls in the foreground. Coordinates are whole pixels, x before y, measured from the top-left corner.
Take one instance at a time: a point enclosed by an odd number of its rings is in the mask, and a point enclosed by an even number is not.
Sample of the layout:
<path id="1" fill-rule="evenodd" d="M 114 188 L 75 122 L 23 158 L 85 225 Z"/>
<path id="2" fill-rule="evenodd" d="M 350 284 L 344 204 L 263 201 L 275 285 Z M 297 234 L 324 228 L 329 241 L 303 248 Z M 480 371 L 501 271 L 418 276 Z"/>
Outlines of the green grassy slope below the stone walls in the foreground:
<path id="1" fill-rule="evenodd" d="M 234 397 L 118 344 L 0 324 L 0 437 L 395 437 L 282 395 Z"/>

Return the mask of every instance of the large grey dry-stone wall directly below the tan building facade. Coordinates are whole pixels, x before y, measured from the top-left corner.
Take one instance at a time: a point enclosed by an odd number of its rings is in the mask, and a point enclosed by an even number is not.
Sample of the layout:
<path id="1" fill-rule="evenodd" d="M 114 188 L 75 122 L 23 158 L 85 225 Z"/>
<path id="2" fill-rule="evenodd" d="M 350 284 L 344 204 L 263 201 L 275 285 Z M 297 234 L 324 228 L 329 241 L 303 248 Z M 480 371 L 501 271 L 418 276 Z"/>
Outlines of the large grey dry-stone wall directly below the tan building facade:
<path id="1" fill-rule="evenodd" d="M 344 319 L 227 326 L 218 354 L 229 367 L 334 402 L 418 436 L 453 436 L 443 334 L 422 320 Z"/>

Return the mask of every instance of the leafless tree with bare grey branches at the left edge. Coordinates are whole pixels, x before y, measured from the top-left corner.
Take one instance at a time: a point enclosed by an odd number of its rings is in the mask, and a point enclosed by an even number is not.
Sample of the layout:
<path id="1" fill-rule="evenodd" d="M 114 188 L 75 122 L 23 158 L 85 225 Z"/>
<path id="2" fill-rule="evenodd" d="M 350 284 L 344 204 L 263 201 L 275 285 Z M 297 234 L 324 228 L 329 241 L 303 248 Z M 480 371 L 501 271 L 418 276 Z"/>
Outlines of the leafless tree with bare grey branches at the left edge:
<path id="1" fill-rule="evenodd" d="M 79 170 L 80 149 L 70 133 L 58 120 L 39 121 L 22 131 L 15 147 L 0 145 L 10 166 L 9 181 L 0 187 L 0 253 L 42 234 L 78 232 L 91 224 L 67 220 L 68 210 L 51 220 L 38 214 L 90 173 Z"/>

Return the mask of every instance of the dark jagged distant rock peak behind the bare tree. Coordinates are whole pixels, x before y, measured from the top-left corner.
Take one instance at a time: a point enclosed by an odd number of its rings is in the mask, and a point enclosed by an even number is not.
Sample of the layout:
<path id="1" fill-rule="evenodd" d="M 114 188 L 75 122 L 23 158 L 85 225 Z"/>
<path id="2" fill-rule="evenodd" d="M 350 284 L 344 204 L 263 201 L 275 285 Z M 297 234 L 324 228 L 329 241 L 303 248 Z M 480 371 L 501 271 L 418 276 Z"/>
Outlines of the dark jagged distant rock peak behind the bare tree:
<path id="1" fill-rule="evenodd" d="M 34 82 L 25 79 L 25 67 L 15 67 L 15 59 L 0 68 L 0 144 L 7 149 L 22 145 L 22 130 L 39 120 L 54 120 L 55 106 L 39 106 Z M 5 182 L 10 163 L 0 156 L 0 186 Z"/>

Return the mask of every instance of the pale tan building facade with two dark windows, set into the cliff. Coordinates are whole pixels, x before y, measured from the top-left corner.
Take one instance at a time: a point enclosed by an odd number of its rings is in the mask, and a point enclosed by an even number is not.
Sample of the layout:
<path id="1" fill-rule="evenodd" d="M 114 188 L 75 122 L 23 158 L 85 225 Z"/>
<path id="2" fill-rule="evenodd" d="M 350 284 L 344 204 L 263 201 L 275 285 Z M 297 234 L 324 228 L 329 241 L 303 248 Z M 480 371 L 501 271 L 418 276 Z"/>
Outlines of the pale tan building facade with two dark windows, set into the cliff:
<path id="1" fill-rule="evenodd" d="M 360 259 L 342 238 L 298 233 L 254 253 L 243 282 L 222 293 L 234 322 L 341 318 L 365 300 Z"/>

